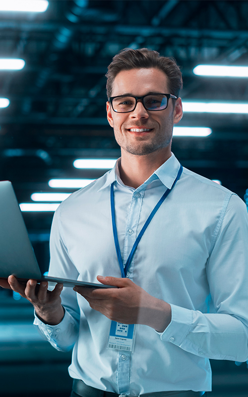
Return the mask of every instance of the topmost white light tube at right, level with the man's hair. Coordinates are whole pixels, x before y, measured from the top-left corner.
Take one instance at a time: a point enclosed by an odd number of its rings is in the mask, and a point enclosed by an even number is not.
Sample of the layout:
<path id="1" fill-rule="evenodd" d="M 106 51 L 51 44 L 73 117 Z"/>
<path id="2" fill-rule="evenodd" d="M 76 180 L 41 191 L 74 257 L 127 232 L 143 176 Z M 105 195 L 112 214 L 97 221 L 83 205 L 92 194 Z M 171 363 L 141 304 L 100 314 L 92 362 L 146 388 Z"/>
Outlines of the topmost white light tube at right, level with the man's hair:
<path id="1" fill-rule="evenodd" d="M 193 73 L 198 76 L 248 77 L 248 66 L 198 65 Z"/>

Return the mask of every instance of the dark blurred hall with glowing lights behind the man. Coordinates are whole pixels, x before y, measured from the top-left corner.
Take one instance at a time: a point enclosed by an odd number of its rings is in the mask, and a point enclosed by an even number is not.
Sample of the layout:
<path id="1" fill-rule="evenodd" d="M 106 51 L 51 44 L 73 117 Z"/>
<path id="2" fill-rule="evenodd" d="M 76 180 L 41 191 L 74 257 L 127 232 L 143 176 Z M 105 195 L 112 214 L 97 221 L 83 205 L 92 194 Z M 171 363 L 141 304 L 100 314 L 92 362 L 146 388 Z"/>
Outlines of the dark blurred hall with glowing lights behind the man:
<path id="1" fill-rule="evenodd" d="M 0 180 L 13 184 L 42 272 L 54 210 L 120 156 L 105 73 L 126 47 L 182 66 L 173 152 L 248 205 L 248 1 L 0 0 Z M 69 396 L 70 353 L 32 322 L 29 302 L 1 289 L 0 395 Z M 248 396 L 247 363 L 211 364 L 209 396 Z"/>

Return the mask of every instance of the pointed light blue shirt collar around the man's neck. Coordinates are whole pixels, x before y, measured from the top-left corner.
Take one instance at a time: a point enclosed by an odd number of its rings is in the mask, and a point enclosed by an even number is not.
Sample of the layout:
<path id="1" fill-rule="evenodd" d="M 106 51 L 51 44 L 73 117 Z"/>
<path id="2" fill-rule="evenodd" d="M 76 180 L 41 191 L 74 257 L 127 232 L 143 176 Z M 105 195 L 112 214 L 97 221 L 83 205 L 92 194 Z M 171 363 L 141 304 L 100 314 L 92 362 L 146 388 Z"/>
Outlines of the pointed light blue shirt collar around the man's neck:
<path id="1" fill-rule="evenodd" d="M 120 173 L 119 173 L 120 161 L 121 161 L 121 157 L 117 160 L 114 168 L 111 171 L 109 171 L 106 182 L 99 189 L 99 191 L 107 188 L 115 181 L 118 181 L 118 183 L 121 182 Z M 145 181 L 145 184 L 147 185 L 148 183 L 152 182 L 155 179 L 160 179 L 163 185 L 165 185 L 168 189 L 171 189 L 175 179 L 177 178 L 179 168 L 180 168 L 180 162 L 172 153 L 171 157 L 167 161 L 165 161 L 165 163 L 162 164 L 156 171 L 154 171 L 154 173 L 147 179 L 147 181 Z"/>

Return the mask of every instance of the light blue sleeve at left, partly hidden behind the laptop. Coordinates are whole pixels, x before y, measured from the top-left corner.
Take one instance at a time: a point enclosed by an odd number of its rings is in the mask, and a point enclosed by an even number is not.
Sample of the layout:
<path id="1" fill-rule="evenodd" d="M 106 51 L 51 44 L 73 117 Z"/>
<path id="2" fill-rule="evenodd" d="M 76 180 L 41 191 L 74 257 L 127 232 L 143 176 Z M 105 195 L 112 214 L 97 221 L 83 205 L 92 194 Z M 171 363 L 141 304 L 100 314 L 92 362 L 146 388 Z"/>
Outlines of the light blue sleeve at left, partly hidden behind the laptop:
<path id="1" fill-rule="evenodd" d="M 61 278 L 77 279 L 78 272 L 72 263 L 64 240 L 60 224 L 61 207 L 54 215 L 50 237 L 50 266 L 49 275 Z M 48 341 L 57 349 L 70 350 L 78 337 L 80 311 L 77 303 L 76 292 L 73 288 L 64 287 L 61 293 L 64 317 L 60 324 L 50 326 L 43 323 L 36 315 L 34 325 L 39 328 Z"/>

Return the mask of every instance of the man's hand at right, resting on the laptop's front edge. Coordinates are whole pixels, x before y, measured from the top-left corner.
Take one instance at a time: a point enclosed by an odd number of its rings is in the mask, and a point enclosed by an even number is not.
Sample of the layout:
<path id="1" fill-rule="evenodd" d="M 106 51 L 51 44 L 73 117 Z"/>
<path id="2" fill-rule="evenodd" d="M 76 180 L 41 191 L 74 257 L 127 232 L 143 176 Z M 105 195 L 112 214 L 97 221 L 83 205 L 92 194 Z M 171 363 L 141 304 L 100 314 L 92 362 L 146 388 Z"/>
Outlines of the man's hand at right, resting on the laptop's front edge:
<path id="1" fill-rule="evenodd" d="M 171 306 L 134 284 L 128 278 L 97 276 L 102 284 L 118 288 L 74 287 L 92 309 L 123 324 L 144 324 L 163 332 L 171 322 Z"/>

